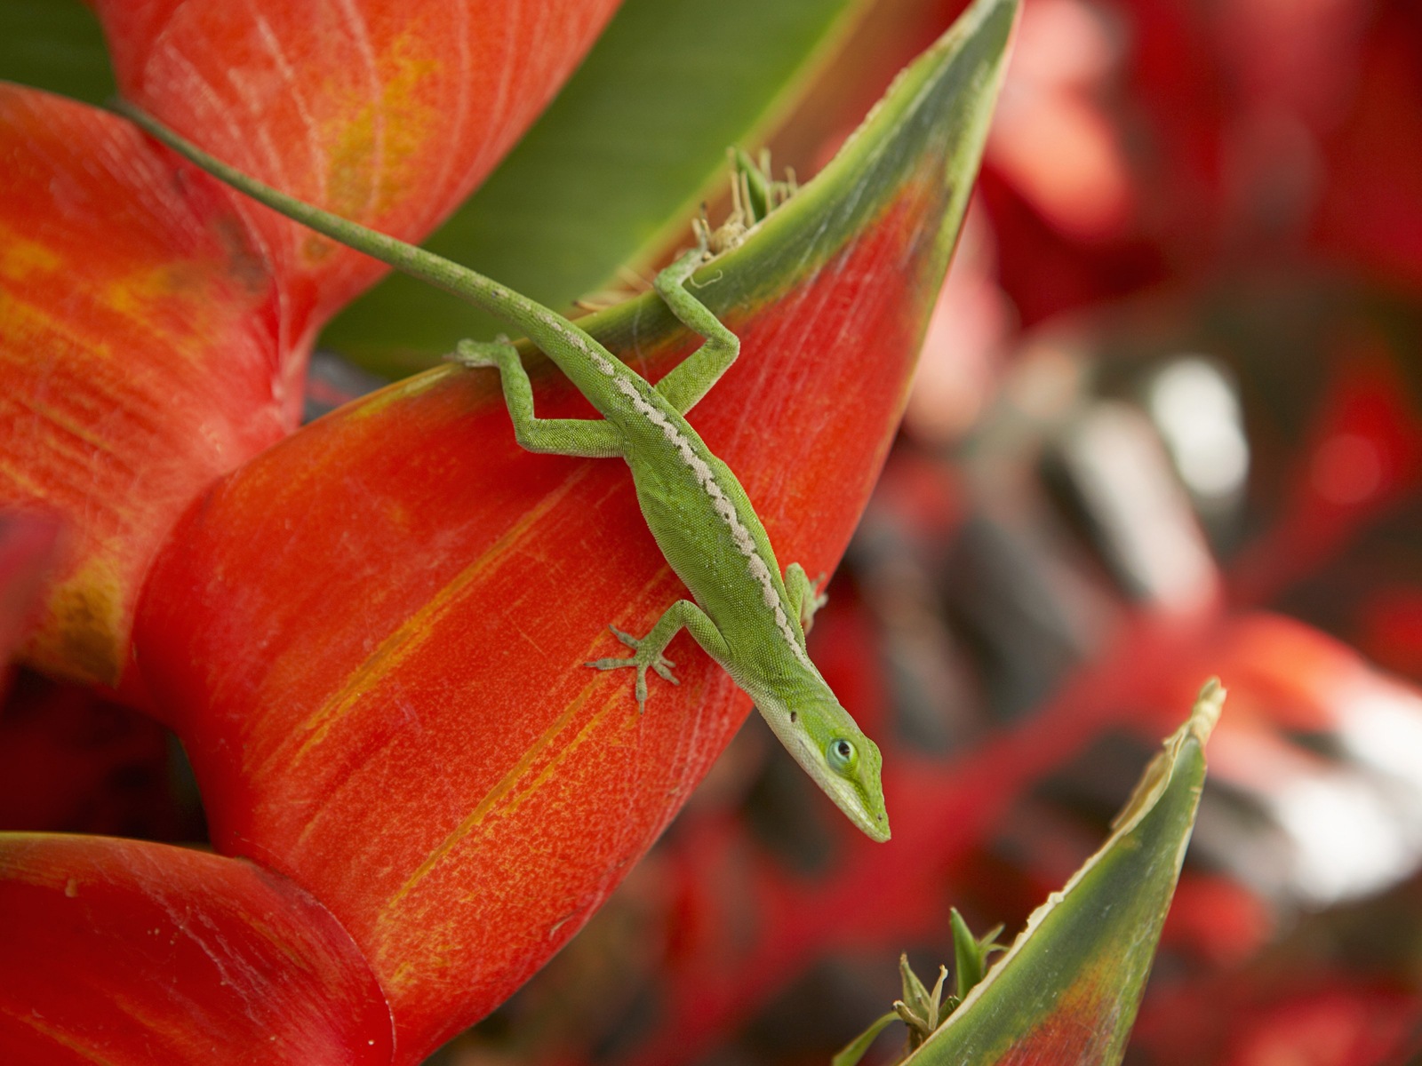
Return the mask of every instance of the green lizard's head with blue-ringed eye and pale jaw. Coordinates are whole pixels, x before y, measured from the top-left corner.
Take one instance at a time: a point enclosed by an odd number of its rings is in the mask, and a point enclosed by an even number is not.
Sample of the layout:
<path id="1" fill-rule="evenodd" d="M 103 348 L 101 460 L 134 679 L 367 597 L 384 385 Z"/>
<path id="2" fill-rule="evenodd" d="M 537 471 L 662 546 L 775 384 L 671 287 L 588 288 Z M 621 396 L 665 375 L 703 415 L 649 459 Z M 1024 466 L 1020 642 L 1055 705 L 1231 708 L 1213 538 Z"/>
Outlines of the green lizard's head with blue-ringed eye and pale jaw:
<path id="1" fill-rule="evenodd" d="M 757 706 L 771 729 L 835 806 L 873 840 L 889 839 L 879 775 L 879 748 L 829 689 L 796 694 L 788 702 L 768 695 Z"/>

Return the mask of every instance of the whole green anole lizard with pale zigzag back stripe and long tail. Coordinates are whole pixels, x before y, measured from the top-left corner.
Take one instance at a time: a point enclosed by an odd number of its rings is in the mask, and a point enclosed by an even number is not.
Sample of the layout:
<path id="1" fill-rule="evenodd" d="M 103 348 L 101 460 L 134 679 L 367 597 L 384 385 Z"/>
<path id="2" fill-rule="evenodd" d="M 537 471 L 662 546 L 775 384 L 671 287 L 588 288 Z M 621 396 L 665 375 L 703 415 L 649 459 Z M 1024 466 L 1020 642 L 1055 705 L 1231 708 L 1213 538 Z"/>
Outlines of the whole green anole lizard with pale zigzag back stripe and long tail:
<path id="1" fill-rule="evenodd" d="M 695 603 L 674 603 L 646 637 L 613 627 L 633 655 L 586 665 L 636 668 L 634 692 L 644 709 L 647 671 L 675 684 L 673 664 L 663 652 L 680 630 L 688 630 L 755 701 L 781 743 L 839 809 L 875 840 L 889 839 L 879 749 L 840 706 L 805 651 L 805 625 L 819 605 L 815 587 L 798 563 L 786 567 L 782 580 L 771 542 L 741 483 L 685 419 L 741 348 L 735 334 L 685 289 L 705 256 L 704 230 L 701 246 L 663 270 L 654 286 L 673 314 L 705 343 L 653 387 L 592 335 L 542 304 L 458 263 L 277 192 L 127 104 L 118 109 L 267 208 L 454 293 L 528 334 L 602 419 L 538 418 L 528 372 L 506 338 L 461 341 L 451 360 L 499 370 L 515 436 L 528 451 L 621 456 L 631 468 L 647 526 L 695 597 Z"/>

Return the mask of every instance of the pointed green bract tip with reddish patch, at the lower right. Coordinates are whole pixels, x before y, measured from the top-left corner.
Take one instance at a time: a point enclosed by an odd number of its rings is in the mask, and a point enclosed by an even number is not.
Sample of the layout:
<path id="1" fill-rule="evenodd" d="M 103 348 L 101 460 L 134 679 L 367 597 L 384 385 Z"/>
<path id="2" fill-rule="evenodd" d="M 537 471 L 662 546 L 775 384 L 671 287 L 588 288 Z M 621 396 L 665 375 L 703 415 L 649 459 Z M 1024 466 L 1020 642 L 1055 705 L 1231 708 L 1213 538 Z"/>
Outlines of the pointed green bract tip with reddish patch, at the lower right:
<path id="1" fill-rule="evenodd" d="M 1194 826 L 1204 742 L 1224 689 L 1210 681 L 1146 768 L 1095 856 L 1028 918 L 997 965 L 906 1062 L 1119 1063 Z"/>

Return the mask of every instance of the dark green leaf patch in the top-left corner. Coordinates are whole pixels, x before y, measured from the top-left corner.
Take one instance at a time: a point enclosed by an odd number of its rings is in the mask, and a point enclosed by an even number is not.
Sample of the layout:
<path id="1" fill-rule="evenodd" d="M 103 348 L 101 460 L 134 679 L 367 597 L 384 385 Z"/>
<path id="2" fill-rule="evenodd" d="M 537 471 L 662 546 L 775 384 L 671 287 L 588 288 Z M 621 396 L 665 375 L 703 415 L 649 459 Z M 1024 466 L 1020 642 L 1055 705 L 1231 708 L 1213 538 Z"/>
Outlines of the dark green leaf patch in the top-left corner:
<path id="1" fill-rule="evenodd" d="M 0 78 L 90 104 L 115 92 L 98 18 L 78 0 L 0 3 Z"/>

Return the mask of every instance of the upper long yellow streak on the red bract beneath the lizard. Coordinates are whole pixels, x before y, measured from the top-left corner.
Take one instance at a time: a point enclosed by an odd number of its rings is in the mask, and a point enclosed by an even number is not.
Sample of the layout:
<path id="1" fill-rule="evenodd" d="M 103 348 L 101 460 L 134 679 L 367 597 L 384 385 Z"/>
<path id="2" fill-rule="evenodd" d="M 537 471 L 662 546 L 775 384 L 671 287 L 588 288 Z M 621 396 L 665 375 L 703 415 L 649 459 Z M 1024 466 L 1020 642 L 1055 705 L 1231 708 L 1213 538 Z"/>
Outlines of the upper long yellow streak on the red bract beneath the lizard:
<path id="1" fill-rule="evenodd" d="M 301 759 L 320 748 L 320 745 L 326 741 L 326 736 L 330 733 L 331 726 L 336 725 L 337 721 L 351 711 L 351 708 L 354 708 L 361 699 L 370 695 L 370 692 L 388 674 L 395 671 L 405 659 L 424 647 L 424 644 L 434 637 L 441 620 L 449 614 L 449 611 L 459 607 L 471 586 L 495 564 L 498 564 L 503 556 L 515 549 L 519 542 L 528 536 L 533 524 L 557 506 L 563 496 L 566 496 L 569 490 L 579 480 L 582 480 L 582 470 L 569 476 L 560 486 L 557 486 L 557 489 L 545 496 L 538 506 L 530 509 L 526 515 L 523 515 L 523 517 L 513 523 L 508 532 L 489 547 L 488 551 L 455 574 L 454 580 L 445 584 L 429 598 L 429 603 L 412 614 L 390 637 L 381 641 L 381 645 L 375 648 L 370 658 L 361 662 L 361 665 L 357 667 L 356 671 L 346 679 L 346 684 L 341 685 L 340 691 L 331 694 L 330 699 L 321 704 L 321 706 L 319 706 L 304 722 L 301 722 L 301 725 L 297 726 L 297 732 L 306 731 L 310 732 L 310 736 L 307 736 L 306 741 L 301 742 L 301 746 L 296 749 L 296 753 L 290 756 L 290 765 L 294 766 L 300 763 Z M 287 762 L 287 756 L 280 750 L 273 758 L 282 759 L 283 763 Z"/>

